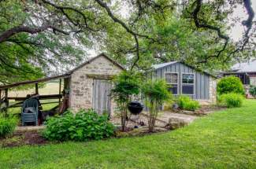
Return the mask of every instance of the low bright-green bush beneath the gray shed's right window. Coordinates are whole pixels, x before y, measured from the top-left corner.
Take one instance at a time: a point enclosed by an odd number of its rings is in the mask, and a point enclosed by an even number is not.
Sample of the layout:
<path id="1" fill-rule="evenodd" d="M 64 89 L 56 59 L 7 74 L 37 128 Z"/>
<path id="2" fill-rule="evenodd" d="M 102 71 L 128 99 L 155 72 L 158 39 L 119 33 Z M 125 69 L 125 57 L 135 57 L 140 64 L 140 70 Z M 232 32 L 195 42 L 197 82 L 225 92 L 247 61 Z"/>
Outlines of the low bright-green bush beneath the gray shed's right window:
<path id="1" fill-rule="evenodd" d="M 188 96 L 178 97 L 177 104 L 179 105 L 179 108 L 184 110 L 195 111 L 196 109 L 200 108 L 198 101 L 194 101 Z"/>

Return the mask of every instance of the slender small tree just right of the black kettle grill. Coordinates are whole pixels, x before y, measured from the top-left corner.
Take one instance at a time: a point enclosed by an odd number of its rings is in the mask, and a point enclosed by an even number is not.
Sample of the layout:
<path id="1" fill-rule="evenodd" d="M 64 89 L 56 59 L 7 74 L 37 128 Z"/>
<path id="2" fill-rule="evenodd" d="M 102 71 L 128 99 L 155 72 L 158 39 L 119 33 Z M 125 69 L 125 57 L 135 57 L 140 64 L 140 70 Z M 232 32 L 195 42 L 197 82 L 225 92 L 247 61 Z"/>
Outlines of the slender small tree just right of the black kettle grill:
<path id="1" fill-rule="evenodd" d="M 155 120 L 158 117 L 161 105 L 171 98 L 168 86 L 163 79 L 149 80 L 142 86 L 142 94 L 149 111 L 149 132 L 154 131 Z"/>

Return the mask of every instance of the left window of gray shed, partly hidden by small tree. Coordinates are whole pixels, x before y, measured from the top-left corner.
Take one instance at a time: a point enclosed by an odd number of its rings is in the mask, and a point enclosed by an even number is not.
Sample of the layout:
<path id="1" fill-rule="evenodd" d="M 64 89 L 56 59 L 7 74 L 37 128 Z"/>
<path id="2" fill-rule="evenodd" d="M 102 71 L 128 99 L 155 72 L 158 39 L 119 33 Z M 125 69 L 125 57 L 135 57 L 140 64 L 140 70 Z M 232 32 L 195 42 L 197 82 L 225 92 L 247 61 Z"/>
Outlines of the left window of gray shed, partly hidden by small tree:
<path id="1" fill-rule="evenodd" d="M 169 84 L 168 90 L 172 92 L 172 94 L 178 94 L 178 73 L 165 73 L 166 83 Z"/>

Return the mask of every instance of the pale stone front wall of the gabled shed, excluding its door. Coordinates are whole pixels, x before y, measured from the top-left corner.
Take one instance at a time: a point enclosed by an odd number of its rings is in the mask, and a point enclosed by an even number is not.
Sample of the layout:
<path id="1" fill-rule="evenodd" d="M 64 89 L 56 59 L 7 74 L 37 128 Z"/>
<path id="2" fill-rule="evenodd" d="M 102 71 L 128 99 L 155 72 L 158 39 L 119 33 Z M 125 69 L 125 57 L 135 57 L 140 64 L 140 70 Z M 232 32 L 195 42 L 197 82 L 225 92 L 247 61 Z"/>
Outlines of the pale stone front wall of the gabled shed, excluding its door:
<path id="1" fill-rule="evenodd" d="M 121 71 L 122 69 L 116 64 L 101 56 L 72 72 L 69 86 L 70 108 L 74 111 L 80 108 L 92 108 L 93 77 L 117 75 Z M 113 112 L 113 106 L 111 109 Z"/>

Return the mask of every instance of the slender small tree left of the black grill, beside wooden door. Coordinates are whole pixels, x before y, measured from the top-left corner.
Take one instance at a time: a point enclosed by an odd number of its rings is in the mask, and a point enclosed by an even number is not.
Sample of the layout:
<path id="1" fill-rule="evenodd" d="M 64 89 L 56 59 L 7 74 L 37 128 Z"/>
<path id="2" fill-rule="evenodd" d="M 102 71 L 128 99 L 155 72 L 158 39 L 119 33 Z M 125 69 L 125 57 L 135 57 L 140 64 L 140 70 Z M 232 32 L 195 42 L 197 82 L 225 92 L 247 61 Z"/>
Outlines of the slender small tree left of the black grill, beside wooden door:
<path id="1" fill-rule="evenodd" d="M 124 131 L 128 117 L 128 103 L 132 101 L 133 96 L 139 94 L 140 76 L 136 73 L 121 72 L 113 79 L 113 83 L 111 94 L 121 112 L 121 125 Z"/>

